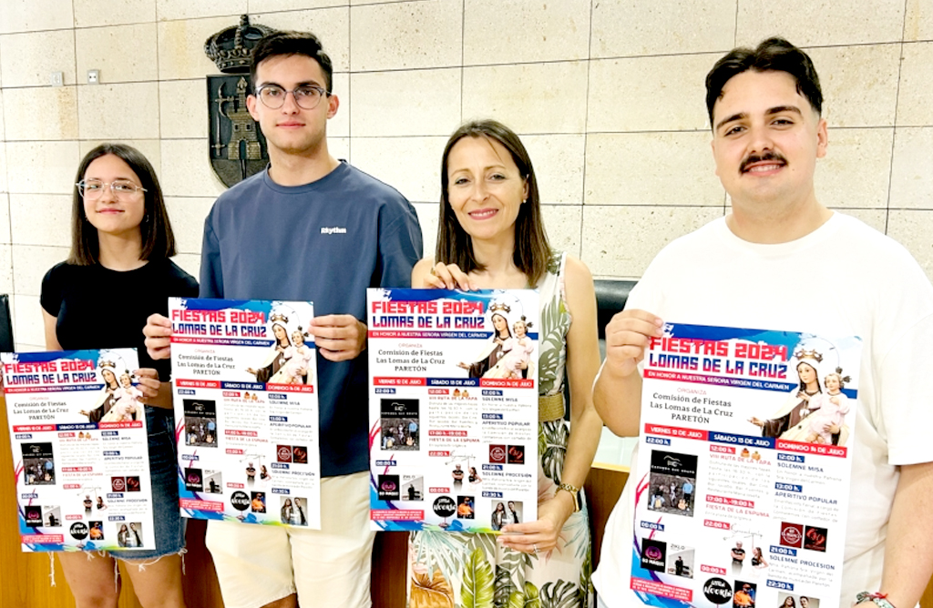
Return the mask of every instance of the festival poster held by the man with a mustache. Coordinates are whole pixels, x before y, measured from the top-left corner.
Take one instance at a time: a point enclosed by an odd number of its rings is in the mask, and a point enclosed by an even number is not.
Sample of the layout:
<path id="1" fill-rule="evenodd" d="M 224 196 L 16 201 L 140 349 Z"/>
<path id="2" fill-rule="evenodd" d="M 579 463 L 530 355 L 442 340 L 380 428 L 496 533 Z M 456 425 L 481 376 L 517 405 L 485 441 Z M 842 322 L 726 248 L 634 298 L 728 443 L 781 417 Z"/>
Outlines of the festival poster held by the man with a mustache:
<path id="1" fill-rule="evenodd" d="M 839 608 L 861 339 L 667 324 L 644 359 L 631 587 Z"/>

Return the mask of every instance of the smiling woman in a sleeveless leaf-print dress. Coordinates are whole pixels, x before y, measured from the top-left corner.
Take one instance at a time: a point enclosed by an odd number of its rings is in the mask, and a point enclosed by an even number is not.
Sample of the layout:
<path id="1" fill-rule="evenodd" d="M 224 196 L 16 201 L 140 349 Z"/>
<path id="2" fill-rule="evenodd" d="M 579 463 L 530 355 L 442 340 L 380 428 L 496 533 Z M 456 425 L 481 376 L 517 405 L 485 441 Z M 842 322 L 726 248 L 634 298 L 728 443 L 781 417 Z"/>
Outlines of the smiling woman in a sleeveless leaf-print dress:
<path id="1" fill-rule="evenodd" d="M 539 292 L 538 518 L 502 526 L 521 534 L 411 532 L 409 608 L 590 608 L 590 527 L 577 490 L 602 429 L 592 406 L 600 364 L 592 276 L 551 251 L 531 159 L 508 127 L 483 120 L 455 131 L 441 192 L 436 257 L 415 266 L 411 285 Z"/>

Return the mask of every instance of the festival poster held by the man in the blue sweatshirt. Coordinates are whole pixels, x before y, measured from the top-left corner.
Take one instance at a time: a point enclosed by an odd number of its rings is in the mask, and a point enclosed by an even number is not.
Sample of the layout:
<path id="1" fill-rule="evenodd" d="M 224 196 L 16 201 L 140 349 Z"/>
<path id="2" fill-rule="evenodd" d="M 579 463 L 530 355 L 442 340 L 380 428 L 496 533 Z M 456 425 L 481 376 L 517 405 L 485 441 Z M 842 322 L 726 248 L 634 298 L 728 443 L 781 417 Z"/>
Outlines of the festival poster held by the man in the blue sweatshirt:
<path id="1" fill-rule="evenodd" d="M 169 299 L 181 513 L 320 529 L 311 302 Z"/>

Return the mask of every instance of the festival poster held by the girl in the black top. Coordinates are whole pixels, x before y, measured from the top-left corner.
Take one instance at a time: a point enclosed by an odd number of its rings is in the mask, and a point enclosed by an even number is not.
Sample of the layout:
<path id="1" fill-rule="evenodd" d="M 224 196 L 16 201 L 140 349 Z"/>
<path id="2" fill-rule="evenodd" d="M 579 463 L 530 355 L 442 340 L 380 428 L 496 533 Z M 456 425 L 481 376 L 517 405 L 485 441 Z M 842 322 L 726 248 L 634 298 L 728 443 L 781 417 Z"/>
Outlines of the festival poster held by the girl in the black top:
<path id="1" fill-rule="evenodd" d="M 136 350 L 0 360 L 22 550 L 154 549 Z"/>

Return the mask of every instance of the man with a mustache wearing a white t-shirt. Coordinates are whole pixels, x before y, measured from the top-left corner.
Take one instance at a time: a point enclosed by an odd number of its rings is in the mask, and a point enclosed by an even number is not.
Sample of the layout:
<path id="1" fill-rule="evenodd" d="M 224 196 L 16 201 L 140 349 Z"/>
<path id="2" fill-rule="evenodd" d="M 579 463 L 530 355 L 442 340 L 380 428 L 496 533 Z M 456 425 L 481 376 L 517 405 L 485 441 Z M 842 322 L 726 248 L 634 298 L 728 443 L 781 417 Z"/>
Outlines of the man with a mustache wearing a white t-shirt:
<path id="1" fill-rule="evenodd" d="M 848 528 L 844 540 L 829 537 L 845 544 L 839 605 L 913 606 L 933 572 L 933 386 L 918 381 L 933 364 L 933 287 L 897 242 L 817 200 L 816 159 L 829 137 L 806 53 L 781 38 L 733 49 L 706 76 L 706 91 L 731 213 L 648 267 L 606 327 L 593 401 L 613 432 L 638 435 L 638 364 L 662 319 L 860 337 Z M 827 277 L 842 284 L 820 289 Z M 606 607 L 642 605 L 629 589 L 632 486 L 609 518 L 593 575 Z"/>

